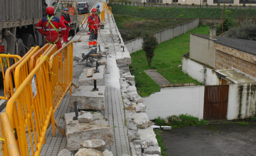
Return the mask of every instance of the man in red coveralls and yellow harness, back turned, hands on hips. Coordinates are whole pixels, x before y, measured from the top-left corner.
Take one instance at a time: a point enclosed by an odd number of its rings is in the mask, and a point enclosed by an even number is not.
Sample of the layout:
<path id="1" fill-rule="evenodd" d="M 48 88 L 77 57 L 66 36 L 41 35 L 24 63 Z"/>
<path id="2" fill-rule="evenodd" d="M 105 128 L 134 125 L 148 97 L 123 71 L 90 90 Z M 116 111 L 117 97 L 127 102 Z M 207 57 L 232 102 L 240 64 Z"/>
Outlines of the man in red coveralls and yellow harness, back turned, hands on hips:
<path id="1" fill-rule="evenodd" d="M 54 13 L 54 8 L 51 6 L 47 7 L 46 8 L 47 17 L 42 18 L 36 25 L 36 28 L 42 35 L 46 36 L 45 41 L 47 43 L 56 44 L 57 49 L 59 50 L 62 47 L 60 36 L 65 35 L 67 28 L 65 24 L 60 20 L 60 18 L 55 17 L 53 13 Z M 59 27 L 62 28 L 62 31 L 60 34 L 58 31 Z"/>

